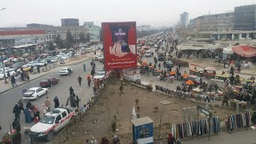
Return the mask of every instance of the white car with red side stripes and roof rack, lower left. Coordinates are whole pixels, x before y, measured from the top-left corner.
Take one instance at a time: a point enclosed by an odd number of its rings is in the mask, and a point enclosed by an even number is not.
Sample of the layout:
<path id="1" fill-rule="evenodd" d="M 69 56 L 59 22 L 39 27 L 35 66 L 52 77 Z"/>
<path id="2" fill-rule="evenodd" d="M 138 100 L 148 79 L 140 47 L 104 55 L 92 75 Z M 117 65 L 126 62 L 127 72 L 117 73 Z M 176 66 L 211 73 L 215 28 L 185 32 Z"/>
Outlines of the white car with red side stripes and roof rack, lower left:
<path id="1" fill-rule="evenodd" d="M 75 108 L 55 108 L 46 113 L 34 126 L 30 128 L 31 138 L 46 138 L 51 141 L 54 138 L 54 133 L 62 130 L 67 126 L 76 115 Z"/>

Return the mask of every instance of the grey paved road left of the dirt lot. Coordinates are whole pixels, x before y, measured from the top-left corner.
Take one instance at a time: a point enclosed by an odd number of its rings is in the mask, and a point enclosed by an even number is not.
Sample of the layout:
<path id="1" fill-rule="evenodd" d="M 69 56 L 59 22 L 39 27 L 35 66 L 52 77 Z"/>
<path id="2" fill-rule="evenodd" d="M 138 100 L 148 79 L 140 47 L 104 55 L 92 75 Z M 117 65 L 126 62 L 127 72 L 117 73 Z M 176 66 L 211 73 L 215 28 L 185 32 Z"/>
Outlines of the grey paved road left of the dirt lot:
<path id="1" fill-rule="evenodd" d="M 42 104 L 46 100 L 46 97 L 48 96 L 52 101 L 54 100 L 55 96 L 58 96 L 60 106 L 62 104 L 66 105 L 66 99 L 69 97 L 69 89 L 70 86 L 73 87 L 74 93 L 78 94 L 78 96 L 81 98 L 80 106 L 82 106 L 82 103 L 85 103 L 89 100 L 89 98 L 93 94 L 92 86 L 87 86 L 87 80 L 86 80 L 86 74 L 90 73 L 90 60 L 87 60 L 86 62 L 86 72 L 83 71 L 82 64 L 80 63 L 75 66 L 70 66 L 74 73 L 71 74 L 71 76 L 58 76 L 58 70 L 60 70 L 62 67 L 56 68 L 54 72 L 47 74 L 43 78 L 47 77 L 55 77 L 59 78 L 60 82 L 58 85 L 55 85 L 51 88 L 49 88 L 49 94 L 43 95 L 38 100 L 32 101 L 33 104 L 38 106 L 38 109 L 40 110 L 42 107 Z M 95 62 L 96 63 L 96 71 L 102 70 L 102 63 Z M 81 75 L 82 77 L 82 86 L 78 85 L 78 75 Z M 22 98 L 22 90 L 30 89 L 31 87 L 38 86 L 39 82 L 42 80 L 42 78 L 35 79 L 34 81 L 28 82 L 22 86 L 18 86 L 14 88 L 13 90 L 7 91 L 6 93 L 0 94 L 0 125 L 2 126 L 2 132 L 0 133 L 0 138 L 2 138 L 3 134 L 6 134 L 6 132 L 10 131 L 10 124 L 14 121 L 14 114 L 12 113 L 14 105 L 18 102 L 20 98 Z M 52 102 L 52 106 L 54 106 L 54 102 Z M 20 122 L 22 128 L 24 126 L 33 126 L 34 123 L 26 124 L 25 123 L 25 117 L 24 114 L 20 115 Z M 22 135 L 24 133 L 22 132 Z M 22 143 L 27 143 L 27 138 L 25 136 L 22 137 Z"/>

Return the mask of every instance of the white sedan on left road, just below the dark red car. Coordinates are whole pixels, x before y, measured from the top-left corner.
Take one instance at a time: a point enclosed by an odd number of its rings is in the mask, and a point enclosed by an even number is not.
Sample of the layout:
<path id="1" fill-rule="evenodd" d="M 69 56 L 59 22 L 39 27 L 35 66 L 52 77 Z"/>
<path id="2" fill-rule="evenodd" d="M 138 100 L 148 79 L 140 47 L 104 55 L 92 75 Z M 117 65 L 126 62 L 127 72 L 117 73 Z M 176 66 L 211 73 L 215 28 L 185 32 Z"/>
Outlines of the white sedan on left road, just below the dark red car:
<path id="1" fill-rule="evenodd" d="M 30 90 L 27 90 L 25 93 L 22 94 L 23 99 L 38 99 L 44 94 L 48 94 L 47 88 L 42 87 L 32 87 Z"/>

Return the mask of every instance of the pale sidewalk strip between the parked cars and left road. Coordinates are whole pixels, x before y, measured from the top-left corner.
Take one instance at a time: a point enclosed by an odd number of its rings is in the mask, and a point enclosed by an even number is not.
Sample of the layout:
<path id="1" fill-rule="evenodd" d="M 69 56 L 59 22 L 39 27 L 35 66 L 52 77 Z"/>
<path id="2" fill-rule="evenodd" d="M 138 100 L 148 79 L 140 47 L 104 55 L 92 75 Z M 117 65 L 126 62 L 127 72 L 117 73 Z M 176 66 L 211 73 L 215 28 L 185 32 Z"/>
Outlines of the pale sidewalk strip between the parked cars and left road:
<path id="1" fill-rule="evenodd" d="M 97 51 L 99 53 L 99 51 Z M 69 62 L 66 62 L 66 64 L 60 65 L 58 64 L 58 66 L 72 66 L 72 65 L 77 65 L 78 63 L 81 62 L 85 62 L 86 60 L 93 58 L 94 57 L 94 53 L 88 53 L 88 54 L 83 54 L 80 58 L 72 58 Z M 55 67 L 54 69 L 51 70 L 47 70 L 46 72 L 41 72 L 40 74 L 30 74 L 30 81 L 33 81 L 34 79 L 37 78 L 42 78 L 43 76 L 45 76 L 46 74 L 50 74 L 51 72 L 55 72 L 57 67 Z M 9 78 L 6 78 L 7 83 L 4 83 L 4 80 L 0 81 L 0 94 L 5 93 L 8 90 L 11 90 L 13 87 L 10 84 Z M 30 81 L 26 81 L 26 82 L 17 82 L 18 86 L 22 86 L 24 84 L 26 84 L 27 82 Z M 14 86 L 14 88 L 17 86 Z"/>

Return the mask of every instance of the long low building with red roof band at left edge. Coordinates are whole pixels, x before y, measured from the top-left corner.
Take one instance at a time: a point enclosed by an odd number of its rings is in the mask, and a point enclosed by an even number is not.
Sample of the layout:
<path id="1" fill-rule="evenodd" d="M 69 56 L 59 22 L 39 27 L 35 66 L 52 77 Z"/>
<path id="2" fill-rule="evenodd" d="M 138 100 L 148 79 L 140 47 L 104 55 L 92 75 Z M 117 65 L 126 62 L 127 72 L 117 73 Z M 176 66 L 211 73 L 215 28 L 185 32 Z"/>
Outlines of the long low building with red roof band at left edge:
<path id="1" fill-rule="evenodd" d="M 0 31 L 0 46 L 18 46 L 24 44 L 44 44 L 46 30 L 9 30 Z"/>

